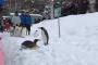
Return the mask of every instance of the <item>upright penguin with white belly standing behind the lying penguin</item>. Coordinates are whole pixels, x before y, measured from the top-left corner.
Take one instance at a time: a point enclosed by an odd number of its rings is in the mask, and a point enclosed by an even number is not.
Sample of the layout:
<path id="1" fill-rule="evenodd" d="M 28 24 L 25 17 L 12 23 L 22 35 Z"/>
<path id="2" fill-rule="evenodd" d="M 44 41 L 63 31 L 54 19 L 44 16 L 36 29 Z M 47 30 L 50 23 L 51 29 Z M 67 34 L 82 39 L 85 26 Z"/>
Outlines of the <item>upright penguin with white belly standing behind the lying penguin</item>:
<path id="1" fill-rule="evenodd" d="M 44 27 L 39 27 L 39 29 L 41 29 L 41 36 L 42 36 L 44 44 L 47 46 L 47 44 L 48 44 L 48 41 L 49 41 L 48 31 L 47 31 L 47 29 L 44 28 Z"/>

